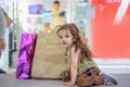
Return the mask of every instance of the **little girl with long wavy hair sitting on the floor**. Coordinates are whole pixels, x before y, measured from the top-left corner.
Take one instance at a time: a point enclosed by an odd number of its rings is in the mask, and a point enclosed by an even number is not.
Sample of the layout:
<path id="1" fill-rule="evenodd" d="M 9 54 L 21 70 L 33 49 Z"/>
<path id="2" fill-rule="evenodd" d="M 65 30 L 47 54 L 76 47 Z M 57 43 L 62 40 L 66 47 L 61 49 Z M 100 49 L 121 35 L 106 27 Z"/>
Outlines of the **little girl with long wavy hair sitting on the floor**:
<path id="1" fill-rule="evenodd" d="M 92 60 L 92 52 L 82 41 L 78 28 L 74 24 L 65 24 L 56 32 L 63 47 L 66 48 L 65 62 L 68 66 L 62 73 L 64 85 L 92 86 L 116 85 L 117 82 L 105 74 L 101 74 Z"/>

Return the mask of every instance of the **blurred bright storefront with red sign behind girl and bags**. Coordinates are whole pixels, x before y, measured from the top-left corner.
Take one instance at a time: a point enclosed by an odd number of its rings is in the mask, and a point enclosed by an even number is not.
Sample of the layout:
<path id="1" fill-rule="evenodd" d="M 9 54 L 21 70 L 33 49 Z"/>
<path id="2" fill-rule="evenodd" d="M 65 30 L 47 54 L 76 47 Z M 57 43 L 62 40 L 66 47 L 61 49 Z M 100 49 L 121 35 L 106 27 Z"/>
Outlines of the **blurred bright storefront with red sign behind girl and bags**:
<path id="1" fill-rule="evenodd" d="M 54 0 L 0 0 L 13 23 L 0 69 L 15 73 L 22 33 L 39 33 L 51 23 Z M 130 0 L 58 0 L 66 23 L 76 23 L 87 37 L 93 59 L 106 73 L 130 73 Z M 37 7 L 40 12 L 37 13 Z"/>

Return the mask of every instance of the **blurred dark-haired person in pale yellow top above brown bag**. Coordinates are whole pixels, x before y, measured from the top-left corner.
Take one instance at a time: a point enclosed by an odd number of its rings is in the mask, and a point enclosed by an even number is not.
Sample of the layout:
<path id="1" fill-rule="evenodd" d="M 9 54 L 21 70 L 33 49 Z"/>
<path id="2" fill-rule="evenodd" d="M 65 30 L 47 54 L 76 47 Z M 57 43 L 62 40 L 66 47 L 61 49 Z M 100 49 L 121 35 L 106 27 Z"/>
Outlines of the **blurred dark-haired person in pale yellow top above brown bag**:
<path id="1" fill-rule="evenodd" d="M 60 1 L 53 2 L 53 11 L 51 13 L 51 30 L 55 30 L 55 26 L 65 23 L 65 13 L 60 8 Z"/>

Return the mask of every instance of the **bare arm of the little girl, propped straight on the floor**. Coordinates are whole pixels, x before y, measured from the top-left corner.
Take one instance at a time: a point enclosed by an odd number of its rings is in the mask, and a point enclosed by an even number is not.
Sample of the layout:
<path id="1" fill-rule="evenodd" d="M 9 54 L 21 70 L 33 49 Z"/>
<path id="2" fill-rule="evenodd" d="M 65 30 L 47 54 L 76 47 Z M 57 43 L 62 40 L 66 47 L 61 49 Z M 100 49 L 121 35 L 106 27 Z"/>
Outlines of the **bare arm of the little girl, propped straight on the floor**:
<path id="1" fill-rule="evenodd" d="M 77 62 L 80 49 L 75 51 L 75 47 L 72 48 L 72 65 L 70 65 L 70 80 L 64 83 L 65 85 L 75 85 L 77 78 Z"/>

